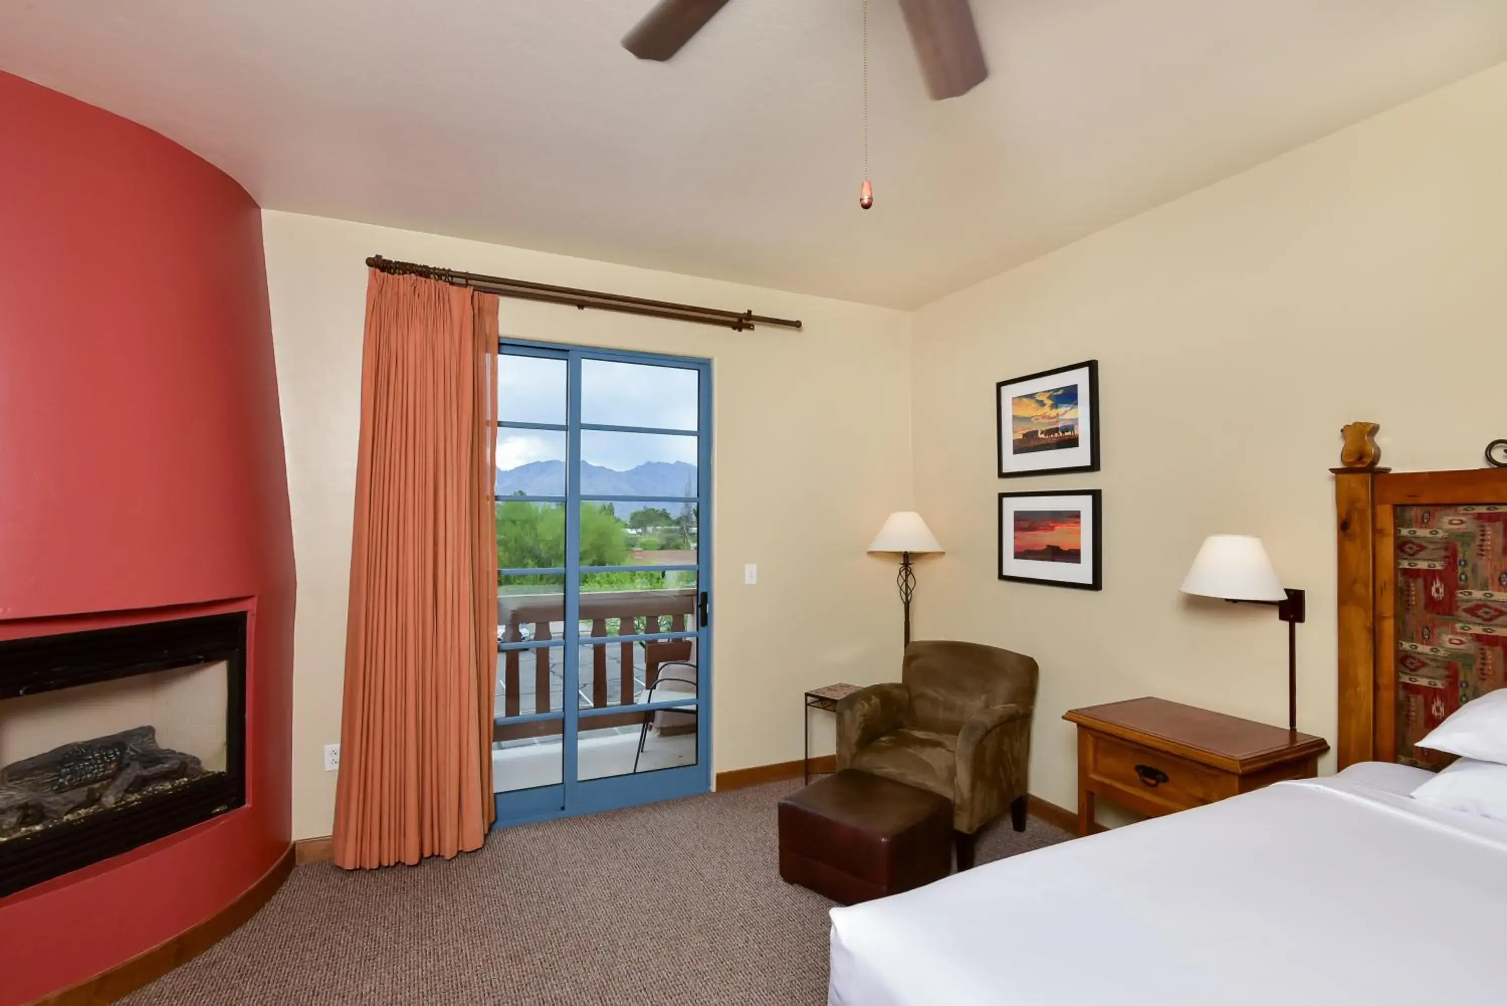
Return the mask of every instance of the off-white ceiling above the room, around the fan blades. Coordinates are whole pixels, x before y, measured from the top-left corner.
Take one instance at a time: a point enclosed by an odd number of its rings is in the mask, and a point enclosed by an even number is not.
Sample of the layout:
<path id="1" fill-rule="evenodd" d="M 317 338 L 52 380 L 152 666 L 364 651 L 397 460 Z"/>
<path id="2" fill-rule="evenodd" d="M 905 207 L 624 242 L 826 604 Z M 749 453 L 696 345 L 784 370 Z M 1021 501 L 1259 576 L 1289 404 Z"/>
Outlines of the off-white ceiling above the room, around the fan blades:
<path id="1" fill-rule="evenodd" d="M 264 207 L 915 308 L 1507 60 L 1507 0 L 974 0 L 925 97 L 894 0 L 0 0 L 0 68 Z M 381 249 L 372 249 L 381 252 Z M 437 262 L 443 264 L 443 262 Z"/>

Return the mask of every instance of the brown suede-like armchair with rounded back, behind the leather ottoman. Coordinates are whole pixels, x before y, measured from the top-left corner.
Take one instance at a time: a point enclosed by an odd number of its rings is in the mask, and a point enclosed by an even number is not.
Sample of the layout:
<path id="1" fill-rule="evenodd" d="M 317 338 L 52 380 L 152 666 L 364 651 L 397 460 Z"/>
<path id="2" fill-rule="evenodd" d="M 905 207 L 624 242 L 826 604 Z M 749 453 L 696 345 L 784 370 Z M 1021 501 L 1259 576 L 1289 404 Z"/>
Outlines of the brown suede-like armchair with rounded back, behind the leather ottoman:
<path id="1" fill-rule="evenodd" d="M 859 769 L 952 801 L 958 869 L 974 834 L 1010 808 L 1026 827 L 1026 768 L 1037 662 L 978 643 L 912 643 L 900 683 L 838 703 L 838 768 Z"/>

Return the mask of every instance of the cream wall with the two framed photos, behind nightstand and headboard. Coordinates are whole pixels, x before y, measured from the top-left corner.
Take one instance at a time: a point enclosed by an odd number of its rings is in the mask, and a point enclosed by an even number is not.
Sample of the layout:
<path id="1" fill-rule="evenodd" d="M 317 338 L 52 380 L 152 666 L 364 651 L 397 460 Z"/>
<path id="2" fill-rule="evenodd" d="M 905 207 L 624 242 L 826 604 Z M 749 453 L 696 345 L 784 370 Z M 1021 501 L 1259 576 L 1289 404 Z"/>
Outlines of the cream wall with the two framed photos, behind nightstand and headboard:
<path id="1" fill-rule="evenodd" d="M 1507 436 L 1507 68 L 1394 109 L 916 315 L 924 636 L 1041 662 L 1032 792 L 1073 805 L 1073 706 L 1156 694 L 1285 719 L 1270 609 L 1194 602 L 1206 534 L 1261 535 L 1299 626 L 1299 727 L 1335 739 L 1341 424 L 1385 463 L 1477 468 Z M 1100 360 L 1103 471 L 995 477 L 995 382 Z M 999 582 L 995 493 L 1102 487 L 1102 593 Z M 1332 760 L 1331 760 L 1332 765 Z"/>

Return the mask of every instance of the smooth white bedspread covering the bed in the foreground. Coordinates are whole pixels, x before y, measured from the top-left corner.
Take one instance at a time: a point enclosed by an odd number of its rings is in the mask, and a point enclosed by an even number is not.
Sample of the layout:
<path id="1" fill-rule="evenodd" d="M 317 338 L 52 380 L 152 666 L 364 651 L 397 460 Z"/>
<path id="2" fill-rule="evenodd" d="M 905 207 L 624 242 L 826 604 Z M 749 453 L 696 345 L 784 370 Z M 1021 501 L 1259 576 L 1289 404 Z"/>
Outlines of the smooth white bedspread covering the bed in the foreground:
<path id="1" fill-rule="evenodd" d="M 830 1006 L 1507 1003 L 1507 825 L 1353 766 L 832 909 Z"/>

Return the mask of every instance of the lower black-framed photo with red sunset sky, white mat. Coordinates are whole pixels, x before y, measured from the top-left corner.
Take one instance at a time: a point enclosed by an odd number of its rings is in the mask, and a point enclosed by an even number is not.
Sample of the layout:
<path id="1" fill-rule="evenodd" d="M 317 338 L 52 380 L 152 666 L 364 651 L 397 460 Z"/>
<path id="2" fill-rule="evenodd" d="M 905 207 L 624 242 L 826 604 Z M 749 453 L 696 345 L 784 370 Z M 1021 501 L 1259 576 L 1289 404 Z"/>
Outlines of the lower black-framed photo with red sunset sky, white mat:
<path id="1" fill-rule="evenodd" d="M 1103 588 L 1100 492 L 999 493 L 999 579 Z"/>

